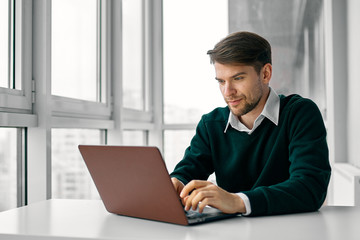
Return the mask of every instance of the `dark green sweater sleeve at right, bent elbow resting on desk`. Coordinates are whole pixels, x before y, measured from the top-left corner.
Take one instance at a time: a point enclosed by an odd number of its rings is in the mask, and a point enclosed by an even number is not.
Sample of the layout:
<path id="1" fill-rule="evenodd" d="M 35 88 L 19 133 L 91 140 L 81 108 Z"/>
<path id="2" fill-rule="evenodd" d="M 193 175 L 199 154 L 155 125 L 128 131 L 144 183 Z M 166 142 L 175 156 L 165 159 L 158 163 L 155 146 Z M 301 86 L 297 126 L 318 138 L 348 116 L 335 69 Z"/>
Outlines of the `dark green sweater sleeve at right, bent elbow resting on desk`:
<path id="1" fill-rule="evenodd" d="M 325 200 L 331 169 L 320 111 L 308 99 L 288 111 L 290 177 L 243 192 L 250 199 L 251 216 L 315 211 Z"/>

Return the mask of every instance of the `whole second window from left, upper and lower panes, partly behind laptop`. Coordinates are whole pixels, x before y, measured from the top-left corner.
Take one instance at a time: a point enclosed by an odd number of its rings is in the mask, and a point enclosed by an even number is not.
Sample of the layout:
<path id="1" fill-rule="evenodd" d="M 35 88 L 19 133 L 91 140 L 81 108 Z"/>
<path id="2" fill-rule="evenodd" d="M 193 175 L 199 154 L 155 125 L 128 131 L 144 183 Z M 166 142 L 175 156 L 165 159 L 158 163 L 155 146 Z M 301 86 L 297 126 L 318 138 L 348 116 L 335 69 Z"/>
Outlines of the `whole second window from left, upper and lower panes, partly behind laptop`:
<path id="1" fill-rule="evenodd" d="M 39 117 L 28 129 L 28 201 L 98 198 L 77 146 L 106 143 L 114 127 L 108 87 L 113 2 L 26 2 L 32 4 Z"/>

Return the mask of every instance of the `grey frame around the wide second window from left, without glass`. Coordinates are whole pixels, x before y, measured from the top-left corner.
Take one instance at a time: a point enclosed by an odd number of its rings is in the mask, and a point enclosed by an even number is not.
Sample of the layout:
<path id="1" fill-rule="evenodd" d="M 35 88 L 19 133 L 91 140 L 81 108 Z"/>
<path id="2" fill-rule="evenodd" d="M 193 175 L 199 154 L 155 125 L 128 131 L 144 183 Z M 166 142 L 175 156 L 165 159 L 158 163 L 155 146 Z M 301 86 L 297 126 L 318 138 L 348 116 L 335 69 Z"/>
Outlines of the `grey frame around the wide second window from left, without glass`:
<path id="1" fill-rule="evenodd" d="M 104 138 L 115 127 L 111 86 L 118 79 L 112 76 L 112 1 L 97 0 L 101 45 L 97 56 L 99 102 L 52 95 L 51 93 L 51 1 L 33 1 L 33 76 L 36 101 L 34 114 L 37 126 L 28 128 L 27 138 L 27 202 L 50 199 L 52 195 L 51 130 L 54 128 L 98 129 Z M 101 60 L 99 60 L 101 59 Z M 117 84 L 117 83 L 116 83 Z M 118 118 L 117 118 L 118 119 Z M 107 143 L 107 140 L 102 140 Z"/>

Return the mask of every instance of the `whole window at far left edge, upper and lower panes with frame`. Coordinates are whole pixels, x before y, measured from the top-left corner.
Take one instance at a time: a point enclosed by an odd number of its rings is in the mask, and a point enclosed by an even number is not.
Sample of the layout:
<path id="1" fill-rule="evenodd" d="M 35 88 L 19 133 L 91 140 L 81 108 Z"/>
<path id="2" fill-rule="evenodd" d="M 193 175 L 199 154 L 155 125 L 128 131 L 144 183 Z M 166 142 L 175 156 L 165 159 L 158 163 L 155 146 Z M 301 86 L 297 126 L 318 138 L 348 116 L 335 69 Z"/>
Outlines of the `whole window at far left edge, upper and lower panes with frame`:
<path id="1" fill-rule="evenodd" d="M 26 203 L 26 127 L 31 114 L 31 1 L 0 1 L 0 211 Z"/>

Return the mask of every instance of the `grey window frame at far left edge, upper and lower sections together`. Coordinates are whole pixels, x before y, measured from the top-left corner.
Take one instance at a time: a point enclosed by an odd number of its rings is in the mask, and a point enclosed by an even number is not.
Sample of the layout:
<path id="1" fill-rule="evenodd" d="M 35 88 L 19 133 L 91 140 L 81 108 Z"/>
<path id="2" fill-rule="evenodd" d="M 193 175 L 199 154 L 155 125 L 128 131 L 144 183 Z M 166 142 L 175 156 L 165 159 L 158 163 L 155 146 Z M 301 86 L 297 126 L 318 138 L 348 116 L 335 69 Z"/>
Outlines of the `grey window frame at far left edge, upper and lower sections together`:
<path id="1" fill-rule="evenodd" d="M 27 128 L 38 124 L 33 114 L 32 4 L 9 1 L 9 79 L 15 86 L 0 87 L 0 127 L 16 128 L 17 207 L 27 204 Z M 20 85 L 20 89 L 12 89 Z"/>

